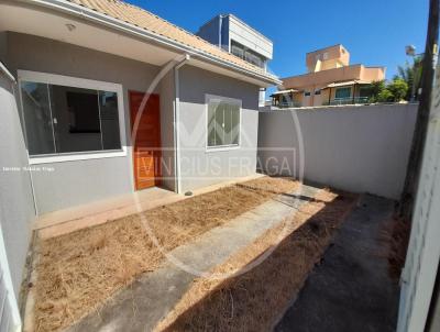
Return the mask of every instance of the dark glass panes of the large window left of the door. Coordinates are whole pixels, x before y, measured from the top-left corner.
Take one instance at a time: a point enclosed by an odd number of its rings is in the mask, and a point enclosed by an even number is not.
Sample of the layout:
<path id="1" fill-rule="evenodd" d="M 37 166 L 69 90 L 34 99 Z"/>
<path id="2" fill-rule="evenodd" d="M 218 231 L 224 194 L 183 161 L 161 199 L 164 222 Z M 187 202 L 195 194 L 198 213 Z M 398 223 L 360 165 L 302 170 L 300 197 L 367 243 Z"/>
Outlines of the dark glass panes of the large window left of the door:
<path id="1" fill-rule="evenodd" d="M 118 95 L 21 81 L 31 156 L 120 150 Z"/>

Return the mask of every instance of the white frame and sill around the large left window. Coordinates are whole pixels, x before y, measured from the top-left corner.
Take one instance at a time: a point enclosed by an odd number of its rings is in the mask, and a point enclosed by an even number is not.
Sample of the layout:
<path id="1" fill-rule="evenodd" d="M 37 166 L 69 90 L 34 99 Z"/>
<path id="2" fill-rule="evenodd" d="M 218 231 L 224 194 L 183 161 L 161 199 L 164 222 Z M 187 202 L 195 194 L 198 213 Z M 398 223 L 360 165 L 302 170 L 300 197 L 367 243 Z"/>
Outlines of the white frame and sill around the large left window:
<path id="1" fill-rule="evenodd" d="M 55 154 L 44 154 L 44 155 L 37 155 L 37 156 L 29 155 L 29 150 L 28 150 L 28 157 L 29 157 L 30 165 L 127 156 L 128 148 L 127 148 L 127 140 L 125 140 L 125 115 L 124 115 L 124 99 L 123 99 L 122 85 L 99 81 L 99 80 L 92 80 L 92 79 L 86 79 L 86 78 L 77 78 L 77 77 L 72 77 L 72 76 L 30 71 L 30 70 L 18 70 L 18 77 L 19 77 L 20 107 L 21 107 L 21 112 L 22 112 L 24 137 L 26 140 L 26 143 L 28 143 L 26 130 L 25 130 L 26 120 L 24 119 L 23 99 L 22 99 L 22 91 L 21 91 L 21 82 L 23 80 L 32 81 L 32 82 L 40 82 L 40 84 L 47 84 L 47 85 L 73 87 L 73 88 L 109 91 L 109 92 L 116 92 L 118 96 L 119 139 L 121 142 L 120 150 L 55 153 Z M 26 148 L 28 148 L 28 146 L 26 146 Z"/>

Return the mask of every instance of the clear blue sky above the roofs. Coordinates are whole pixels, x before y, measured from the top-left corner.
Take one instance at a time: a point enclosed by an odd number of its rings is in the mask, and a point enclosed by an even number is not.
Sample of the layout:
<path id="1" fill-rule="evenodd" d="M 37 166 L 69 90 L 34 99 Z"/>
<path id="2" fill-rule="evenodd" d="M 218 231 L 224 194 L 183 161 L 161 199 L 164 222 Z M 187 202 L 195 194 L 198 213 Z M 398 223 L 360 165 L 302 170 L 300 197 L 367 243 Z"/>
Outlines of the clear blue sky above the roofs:
<path id="1" fill-rule="evenodd" d="M 219 13 L 233 13 L 274 42 L 270 69 L 304 74 L 305 54 L 343 44 L 351 63 L 387 67 L 388 79 L 407 59 L 405 45 L 425 48 L 428 0 L 128 0 L 196 32 Z"/>

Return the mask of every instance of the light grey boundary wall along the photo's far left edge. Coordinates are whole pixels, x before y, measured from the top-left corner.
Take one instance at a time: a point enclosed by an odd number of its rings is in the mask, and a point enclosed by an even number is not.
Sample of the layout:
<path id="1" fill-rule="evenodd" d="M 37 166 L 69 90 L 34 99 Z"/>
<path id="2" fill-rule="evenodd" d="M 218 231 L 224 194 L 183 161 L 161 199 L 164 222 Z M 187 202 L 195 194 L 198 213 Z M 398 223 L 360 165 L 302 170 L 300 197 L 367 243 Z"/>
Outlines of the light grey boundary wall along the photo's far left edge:
<path id="1" fill-rule="evenodd" d="M 0 64 L 0 332 L 21 331 L 18 297 L 34 218 L 13 81 Z"/>

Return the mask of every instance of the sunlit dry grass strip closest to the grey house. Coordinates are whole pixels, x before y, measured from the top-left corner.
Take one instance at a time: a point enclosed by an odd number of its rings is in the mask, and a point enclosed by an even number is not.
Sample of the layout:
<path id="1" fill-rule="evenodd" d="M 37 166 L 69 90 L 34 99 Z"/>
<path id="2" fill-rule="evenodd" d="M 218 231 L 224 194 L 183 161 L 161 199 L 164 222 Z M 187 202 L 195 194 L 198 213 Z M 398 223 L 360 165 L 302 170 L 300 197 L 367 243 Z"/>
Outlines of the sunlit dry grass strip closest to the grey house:
<path id="1" fill-rule="evenodd" d="M 292 179 L 264 177 L 142 214 L 169 251 L 297 188 L 298 182 Z M 70 325 L 164 261 L 141 214 L 42 241 L 36 257 L 36 331 L 59 331 Z"/>

